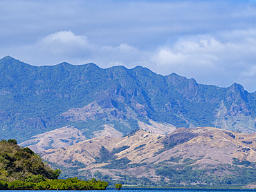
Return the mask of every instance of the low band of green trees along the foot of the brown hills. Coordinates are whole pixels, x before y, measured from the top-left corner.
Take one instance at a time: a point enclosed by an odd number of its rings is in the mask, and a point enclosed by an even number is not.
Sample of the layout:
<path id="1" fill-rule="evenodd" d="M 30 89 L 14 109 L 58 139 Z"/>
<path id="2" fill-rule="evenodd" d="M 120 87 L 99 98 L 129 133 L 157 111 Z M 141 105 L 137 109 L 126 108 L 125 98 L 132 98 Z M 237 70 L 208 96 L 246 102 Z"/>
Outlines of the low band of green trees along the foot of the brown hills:
<path id="1" fill-rule="evenodd" d="M 174 162 L 180 158 L 174 158 Z M 125 160 L 110 163 L 102 168 L 115 169 L 118 180 L 113 180 L 110 175 L 104 175 L 100 171 L 91 173 L 90 171 L 75 172 L 75 169 L 71 171 L 70 168 L 62 169 L 64 174 L 61 177 L 67 175 L 79 175 L 84 180 L 88 180 L 91 175 L 97 180 L 104 180 L 109 183 L 109 186 L 115 186 L 115 182 L 122 185 L 134 185 L 138 186 L 151 186 L 151 187 L 174 187 L 174 188 L 209 188 L 209 189 L 238 189 L 241 186 L 255 182 L 256 169 L 249 166 L 235 166 L 230 164 L 212 165 L 209 164 L 203 169 L 200 166 L 190 165 L 188 158 L 184 159 L 184 164 L 127 164 Z M 182 161 L 181 161 L 182 162 Z M 116 166 L 115 166 L 116 165 Z M 56 166 L 56 165 L 55 165 Z M 56 166 L 57 167 L 57 166 Z M 125 175 L 118 170 L 127 168 L 135 168 L 144 170 L 155 170 L 155 173 L 160 180 L 152 181 L 153 177 L 136 177 L 136 175 Z M 66 176 L 65 176 L 66 175 Z M 114 177 L 116 178 L 116 177 Z"/>

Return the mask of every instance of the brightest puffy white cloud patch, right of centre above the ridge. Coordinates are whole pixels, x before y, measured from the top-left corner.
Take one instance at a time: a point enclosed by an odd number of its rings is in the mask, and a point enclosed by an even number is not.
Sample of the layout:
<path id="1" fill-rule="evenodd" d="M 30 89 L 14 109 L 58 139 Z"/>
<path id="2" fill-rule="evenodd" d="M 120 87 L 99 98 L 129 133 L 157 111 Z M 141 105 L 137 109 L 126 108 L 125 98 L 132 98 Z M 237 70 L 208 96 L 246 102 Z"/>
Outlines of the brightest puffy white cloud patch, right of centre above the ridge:
<path id="1" fill-rule="evenodd" d="M 152 56 L 152 61 L 179 71 L 190 67 L 212 68 L 219 60 L 217 52 L 223 48 L 224 45 L 212 37 L 182 39 L 173 46 L 159 48 Z"/>

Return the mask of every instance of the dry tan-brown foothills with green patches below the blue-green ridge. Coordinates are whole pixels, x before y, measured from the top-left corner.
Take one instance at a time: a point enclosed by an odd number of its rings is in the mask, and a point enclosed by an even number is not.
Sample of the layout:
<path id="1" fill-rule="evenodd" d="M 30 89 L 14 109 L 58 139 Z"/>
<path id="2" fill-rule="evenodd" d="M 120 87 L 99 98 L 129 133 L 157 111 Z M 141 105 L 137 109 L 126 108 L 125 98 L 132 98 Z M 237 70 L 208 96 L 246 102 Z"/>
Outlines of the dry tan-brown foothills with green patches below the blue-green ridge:
<path id="1" fill-rule="evenodd" d="M 256 174 L 255 134 L 210 127 L 178 128 L 165 136 L 140 130 L 49 149 L 42 157 L 69 168 L 66 175 L 75 170 L 79 177 L 105 175 L 125 184 L 131 178 L 137 184 L 145 178 L 147 184 L 249 184 Z"/>

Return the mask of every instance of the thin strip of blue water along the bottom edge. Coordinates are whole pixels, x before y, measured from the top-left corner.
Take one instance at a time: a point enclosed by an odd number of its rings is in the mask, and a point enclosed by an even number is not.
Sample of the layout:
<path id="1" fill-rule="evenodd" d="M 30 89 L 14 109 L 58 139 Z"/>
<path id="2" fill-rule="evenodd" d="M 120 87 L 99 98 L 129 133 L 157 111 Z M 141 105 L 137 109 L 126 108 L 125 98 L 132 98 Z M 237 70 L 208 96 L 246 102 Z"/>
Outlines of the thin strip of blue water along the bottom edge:
<path id="1" fill-rule="evenodd" d="M 10 191 L 16 191 L 16 192 L 33 192 L 32 190 L 1 190 L 1 192 L 10 192 Z M 57 192 L 57 190 L 36 190 L 34 192 Z M 87 190 L 86 192 L 117 192 L 118 190 L 115 189 L 106 189 L 106 190 Z M 133 189 L 133 188 L 127 188 L 127 189 L 121 189 L 120 192 L 254 192 L 256 189 Z M 75 190 L 59 190 L 58 192 L 75 192 Z M 81 191 L 77 191 L 81 192 Z"/>

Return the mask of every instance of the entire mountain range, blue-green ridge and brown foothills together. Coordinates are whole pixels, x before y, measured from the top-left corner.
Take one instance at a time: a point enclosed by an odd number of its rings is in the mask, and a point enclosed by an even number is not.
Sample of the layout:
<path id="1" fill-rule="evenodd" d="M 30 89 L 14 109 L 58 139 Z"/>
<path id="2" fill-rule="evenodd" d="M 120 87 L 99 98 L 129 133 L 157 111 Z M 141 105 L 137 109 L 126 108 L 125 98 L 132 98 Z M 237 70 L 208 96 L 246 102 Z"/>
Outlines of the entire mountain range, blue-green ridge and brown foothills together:
<path id="1" fill-rule="evenodd" d="M 0 135 L 60 177 L 255 188 L 256 92 L 147 68 L 0 59 Z M 249 186 L 250 185 L 250 186 Z"/>

